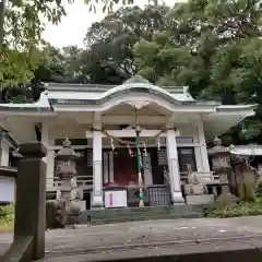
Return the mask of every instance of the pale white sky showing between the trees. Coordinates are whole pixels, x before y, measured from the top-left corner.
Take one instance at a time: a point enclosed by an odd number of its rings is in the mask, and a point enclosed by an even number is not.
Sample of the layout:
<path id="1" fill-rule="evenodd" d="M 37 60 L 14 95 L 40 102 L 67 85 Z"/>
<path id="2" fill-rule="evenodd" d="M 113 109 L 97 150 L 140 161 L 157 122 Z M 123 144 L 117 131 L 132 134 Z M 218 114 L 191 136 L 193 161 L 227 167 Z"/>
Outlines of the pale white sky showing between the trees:
<path id="1" fill-rule="evenodd" d="M 64 0 L 66 1 L 66 0 Z M 165 0 L 167 4 L 174 4 L 176 0 Z M 136 0 L 136 4 L 144 7 L 147 0 Z M 83 39 L 87 28 L 94 22 L 100 21 L 106 14 L 98 8 L 96 13 L 88 12 L 84 0 L 74 0 L 74 3 L 66 3 L 67 16 L 62 17 L 58 25 L 47 24 L 44 37 L 52 46 L 64 47 L 71 45 L 83 46 Z"/>

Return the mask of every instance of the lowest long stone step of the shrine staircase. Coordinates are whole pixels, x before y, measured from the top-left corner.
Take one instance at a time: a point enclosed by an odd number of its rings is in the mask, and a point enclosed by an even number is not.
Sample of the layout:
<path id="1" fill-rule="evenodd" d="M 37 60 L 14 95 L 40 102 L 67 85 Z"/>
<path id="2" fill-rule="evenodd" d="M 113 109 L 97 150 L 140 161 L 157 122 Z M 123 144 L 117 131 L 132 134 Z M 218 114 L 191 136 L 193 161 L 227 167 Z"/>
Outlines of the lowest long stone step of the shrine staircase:
<path id="1" fill-rule="evenodd" d="M 201 213 L 190 213 L 183 215 L 156 215 L 156 216 L 136 216 L 136 217 L 116 217 L 116 218 L 104 218 L 104 219 L 92 219 L 92 225 L 104 225 L 114 223 L 124 222 L 136 222 L 136 221 L 157 221 L 157 219 L 179 219 L 179 218 L 201 218 Z"/>

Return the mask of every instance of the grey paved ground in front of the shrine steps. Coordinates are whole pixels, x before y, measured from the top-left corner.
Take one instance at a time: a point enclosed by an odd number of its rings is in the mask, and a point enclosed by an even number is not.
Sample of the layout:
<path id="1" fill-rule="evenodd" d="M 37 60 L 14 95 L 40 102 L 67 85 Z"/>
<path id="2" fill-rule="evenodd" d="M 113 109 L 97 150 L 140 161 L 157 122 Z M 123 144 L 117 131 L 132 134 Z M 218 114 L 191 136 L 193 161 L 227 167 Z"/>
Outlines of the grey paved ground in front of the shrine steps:
<path id="1" fill-rule="evenodd" d="M 12 234 L 0 234 L 0 254 L 11 242 Z M 47 231 L 45 262 L 260 250 L 261 247 L 262 216 L 133 222 Z M 78 258 L 72 259 L 76 253 Z"/>

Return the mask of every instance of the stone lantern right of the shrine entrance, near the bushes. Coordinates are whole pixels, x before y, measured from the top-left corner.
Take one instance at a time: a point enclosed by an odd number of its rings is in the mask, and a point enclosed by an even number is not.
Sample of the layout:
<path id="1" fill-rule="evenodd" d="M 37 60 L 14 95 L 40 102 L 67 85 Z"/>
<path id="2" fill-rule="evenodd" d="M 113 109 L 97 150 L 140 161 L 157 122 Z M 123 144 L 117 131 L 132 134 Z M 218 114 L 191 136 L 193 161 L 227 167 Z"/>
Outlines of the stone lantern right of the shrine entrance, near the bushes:
<path id="1" fill-rule="evenodd" d="M 222 145 L 222 140 L 215 138 L 214 146 L 207 151 L 212 160 L 213 171 L 219 176 L 222 186 L 221 195 L 216 202 L 222 204 L 230 204 L 237 201 L 237 198 L 231 194 L 229 189 L 228 177 L 231 175 L 230 150 Z"/>

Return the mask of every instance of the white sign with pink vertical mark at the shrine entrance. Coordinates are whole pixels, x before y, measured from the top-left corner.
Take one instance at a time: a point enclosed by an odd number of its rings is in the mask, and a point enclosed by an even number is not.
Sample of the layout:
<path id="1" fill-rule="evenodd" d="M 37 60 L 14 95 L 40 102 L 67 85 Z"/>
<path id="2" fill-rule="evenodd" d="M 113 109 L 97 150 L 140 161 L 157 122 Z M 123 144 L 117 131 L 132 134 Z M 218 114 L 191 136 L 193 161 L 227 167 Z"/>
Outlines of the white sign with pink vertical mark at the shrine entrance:
<path id="1" fill-rule="evenodd" d="M 127 207 L 128 196 L 127 190 L 108 190 L 105 191 L 105 207 Z"/>

